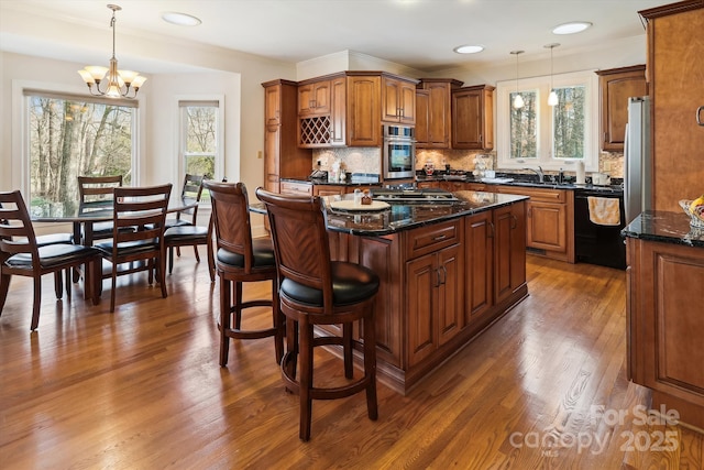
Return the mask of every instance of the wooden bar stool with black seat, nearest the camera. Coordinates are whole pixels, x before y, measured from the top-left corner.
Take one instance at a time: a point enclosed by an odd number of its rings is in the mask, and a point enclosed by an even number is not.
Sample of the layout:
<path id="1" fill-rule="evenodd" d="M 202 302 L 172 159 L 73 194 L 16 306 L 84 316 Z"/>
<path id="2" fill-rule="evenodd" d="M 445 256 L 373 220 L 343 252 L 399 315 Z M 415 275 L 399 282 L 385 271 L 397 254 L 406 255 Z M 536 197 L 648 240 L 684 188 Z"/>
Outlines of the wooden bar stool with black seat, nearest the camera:
<path id="1" fill-rule="evenodd" d="M 374 298 L 378 276 L 360 264 L 330 260 L 326 209 L 320 197 L 282 196 L 262 188 L 256 189 L 256 196 L 266 205 L 274 241 L 279 298 L 286 316 L 287 351 L 282 360 L 282 378 L 286 389 L 300 396 L 300 439 L 310 438 L 314 400 L 336 400 L 366 391 L 367 415 L 376 420 Z M 352 338 L 358 321 L 362 323 L 363 343 Z M 342 325 L 342 337 L 315 337 L 316 325 Z M 314 347 L 323 345 L 342 346 L 346 384 L 315 386 Z M 355 347 L 364 356 L 364 374 L 358 380 L 352 364 Z"/>

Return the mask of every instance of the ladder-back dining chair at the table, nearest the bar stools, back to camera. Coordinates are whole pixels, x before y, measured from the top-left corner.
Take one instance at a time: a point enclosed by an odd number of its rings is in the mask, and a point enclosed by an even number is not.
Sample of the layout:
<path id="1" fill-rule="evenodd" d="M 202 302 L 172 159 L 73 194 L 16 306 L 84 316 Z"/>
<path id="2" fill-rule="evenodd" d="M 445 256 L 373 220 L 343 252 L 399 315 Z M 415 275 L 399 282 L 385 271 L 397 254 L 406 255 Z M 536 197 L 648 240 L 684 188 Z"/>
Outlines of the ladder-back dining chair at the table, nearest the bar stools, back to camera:
<path id="1" fill-rule="evenodd" d="M 153 270 L 162 286 L 162 297 L 166 298 L 164 272 L 166 251 L 164 245 L 164 223 L 172 184 L 145 187 L 116 187 L 112 238 L 96 244 L 102 258 L 112 263 L 110 278 L 110 311 L 114 311 L 117 277 L 139 271 L 148 271 L 148 283 L 153 282 Z M 124 228 L 138 227 L 127 231 Z M 139 263 L 136 263 L 139 262 Z M 121 264 L 130 263 L 128 266 Z M 102 276 L 101 276 L 102 277 Z"/>

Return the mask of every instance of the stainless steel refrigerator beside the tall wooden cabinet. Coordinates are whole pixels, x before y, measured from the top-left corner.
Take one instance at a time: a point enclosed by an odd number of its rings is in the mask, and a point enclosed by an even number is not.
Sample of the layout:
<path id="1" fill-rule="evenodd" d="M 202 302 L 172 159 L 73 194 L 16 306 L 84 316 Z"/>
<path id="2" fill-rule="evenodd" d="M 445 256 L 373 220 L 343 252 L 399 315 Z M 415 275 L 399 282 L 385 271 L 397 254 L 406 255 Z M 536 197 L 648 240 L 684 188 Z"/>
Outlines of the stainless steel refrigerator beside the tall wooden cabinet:
<path id="1" fill-rule="evenodd" d="M 628 98 L 624 140 L 624 209 L 626 223 L 650 209 L 651 194 L 650 97 Z"/>

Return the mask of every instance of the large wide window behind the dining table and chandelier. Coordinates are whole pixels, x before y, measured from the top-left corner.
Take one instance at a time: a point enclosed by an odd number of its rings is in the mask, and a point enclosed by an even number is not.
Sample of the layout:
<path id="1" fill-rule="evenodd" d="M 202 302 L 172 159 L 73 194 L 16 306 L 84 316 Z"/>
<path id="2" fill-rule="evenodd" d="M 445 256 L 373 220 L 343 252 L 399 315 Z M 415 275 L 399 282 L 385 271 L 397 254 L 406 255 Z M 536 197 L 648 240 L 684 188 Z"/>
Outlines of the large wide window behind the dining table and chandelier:
<path id="1" fill-rule="evenodd" d="M 61 215 L 78 204 L 80 175 L 133 176 L 136 101 L 24 91 L 32 214 Z"/>

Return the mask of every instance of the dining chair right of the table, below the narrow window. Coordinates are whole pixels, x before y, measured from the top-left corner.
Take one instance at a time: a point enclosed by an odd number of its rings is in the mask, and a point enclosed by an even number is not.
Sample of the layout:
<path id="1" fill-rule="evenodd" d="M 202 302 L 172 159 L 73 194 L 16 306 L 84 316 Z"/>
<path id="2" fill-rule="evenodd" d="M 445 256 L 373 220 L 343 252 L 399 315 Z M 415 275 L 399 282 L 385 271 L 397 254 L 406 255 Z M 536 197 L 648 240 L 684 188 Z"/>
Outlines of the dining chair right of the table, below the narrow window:
<path id="1" fill-rule="evenodd" d="M 210 281 L 215 282 L 215 260 L 212 250 L 212 225 L 208 221 L 208 226 L 198 225 L 198 203 L 202 195 L 204 176 L 187 174 L 184 177 L 184 185 L 180 193 L 182 204 L 186 209 L 176 212 L 175 218 L 166 219 L 166 231 L 164 241 L 168 256 L 168 273 L 174 270 L 174 250 L 180 256 L 180 247 L 193 247 L 196 261 L 200 262 L 198 245 L 206 245 L 208 258 L 208 273 Z M 182 216 L 190 216 L 189 219 Z"/>

